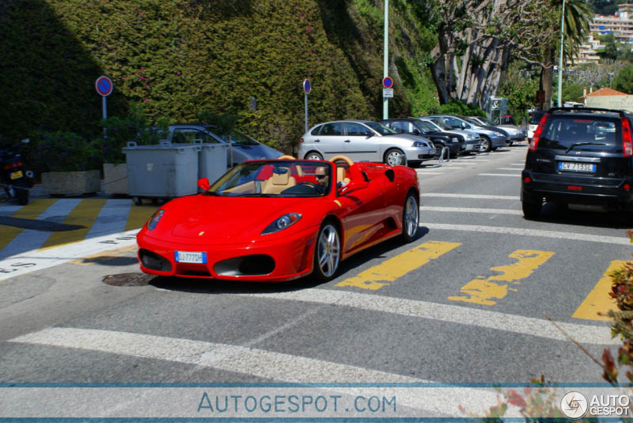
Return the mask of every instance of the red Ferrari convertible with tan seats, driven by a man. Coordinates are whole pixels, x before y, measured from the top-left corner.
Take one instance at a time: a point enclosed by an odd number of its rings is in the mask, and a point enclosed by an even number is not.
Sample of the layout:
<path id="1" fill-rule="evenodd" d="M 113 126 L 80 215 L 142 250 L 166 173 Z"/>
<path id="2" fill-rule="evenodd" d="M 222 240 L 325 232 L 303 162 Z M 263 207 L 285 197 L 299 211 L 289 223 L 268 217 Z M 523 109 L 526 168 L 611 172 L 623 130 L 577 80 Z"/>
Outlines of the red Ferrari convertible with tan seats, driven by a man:
<path id="1" fill-rule="evenodd" d="M 365 248 L 412 242 L 420 222 L 418 176 L 404 166 L 282 156 L 238 164 L 213 185 L 198 185 L 202 193 L 163 205 L 139 232 L 143 272 L 327 281 Z"/>

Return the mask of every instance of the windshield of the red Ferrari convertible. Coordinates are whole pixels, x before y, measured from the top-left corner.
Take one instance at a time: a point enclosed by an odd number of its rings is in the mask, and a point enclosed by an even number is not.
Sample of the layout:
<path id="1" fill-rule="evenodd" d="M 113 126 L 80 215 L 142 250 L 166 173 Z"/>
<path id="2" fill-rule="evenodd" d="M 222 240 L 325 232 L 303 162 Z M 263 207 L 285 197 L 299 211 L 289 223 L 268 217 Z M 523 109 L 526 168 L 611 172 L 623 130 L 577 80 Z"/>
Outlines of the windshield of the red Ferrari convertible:
<path id="1" fill-rule="evenodd" d="M 220 197 L 320 197 L 330 192 L 332 165 L 299 160 L 243 162 L 204 192 Z"/>

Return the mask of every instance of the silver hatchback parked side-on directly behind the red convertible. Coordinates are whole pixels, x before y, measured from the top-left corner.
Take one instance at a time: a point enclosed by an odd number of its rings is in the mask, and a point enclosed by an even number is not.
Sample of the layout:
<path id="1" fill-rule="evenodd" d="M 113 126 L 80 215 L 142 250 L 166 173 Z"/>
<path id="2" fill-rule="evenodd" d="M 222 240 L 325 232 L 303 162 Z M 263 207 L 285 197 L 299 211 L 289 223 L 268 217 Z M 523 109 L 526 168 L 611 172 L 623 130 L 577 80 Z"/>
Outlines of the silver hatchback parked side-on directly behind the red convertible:
<path id="1" fill-rule="evenodd" d="M 429 139 L 398 133 L 366 120 L 332 121 L 313 126 L 299 140 L 300 159 L 323 160 L 339 154 L 353 161 L 417 166 L 435 157 Z M 403 162 L 403 157 L 406 162 Z"/>

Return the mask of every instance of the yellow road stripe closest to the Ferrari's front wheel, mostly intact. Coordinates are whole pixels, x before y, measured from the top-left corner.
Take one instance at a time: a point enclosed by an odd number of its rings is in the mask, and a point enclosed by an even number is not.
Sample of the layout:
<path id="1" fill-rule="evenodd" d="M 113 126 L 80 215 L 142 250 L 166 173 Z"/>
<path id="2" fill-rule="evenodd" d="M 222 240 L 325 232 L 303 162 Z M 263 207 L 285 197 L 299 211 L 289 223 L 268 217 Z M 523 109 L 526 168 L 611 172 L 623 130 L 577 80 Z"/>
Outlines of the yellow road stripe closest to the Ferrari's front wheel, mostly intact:
<path id="1" fill-rule="evenodd" d="M 458 242 L 425 242 L 380 263 L 378 266 L 373 266 L 353 278 L 345 279 L 337 283 L 336 286 L 355 286 L 366 290 L 379 290 L 383 286 L 389 285 L 389 282 L 424 266 L 432 259 L 437 259 L 437 257 L 460 245 L 461 243 Z"/>

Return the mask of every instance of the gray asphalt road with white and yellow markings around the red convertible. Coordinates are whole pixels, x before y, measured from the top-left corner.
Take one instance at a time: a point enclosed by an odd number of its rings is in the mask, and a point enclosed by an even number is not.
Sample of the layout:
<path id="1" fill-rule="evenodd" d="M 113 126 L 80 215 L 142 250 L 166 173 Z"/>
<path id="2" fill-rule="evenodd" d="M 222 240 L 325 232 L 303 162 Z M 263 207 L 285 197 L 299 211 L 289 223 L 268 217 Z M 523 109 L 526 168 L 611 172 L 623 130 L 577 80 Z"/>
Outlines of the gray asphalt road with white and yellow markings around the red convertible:
<path id="1" fill-rule="evenodd" d="M 568 336 L 598 360 L 617 347 L 596 312 L 627 223 L 551 205 L 523 219 L 525 149 L 419 169 L 418 239 L 330 283 L 152 278 L 130 243 L 0 280 L 0 382 L 602 382 Z"/>

